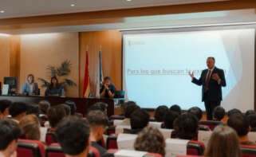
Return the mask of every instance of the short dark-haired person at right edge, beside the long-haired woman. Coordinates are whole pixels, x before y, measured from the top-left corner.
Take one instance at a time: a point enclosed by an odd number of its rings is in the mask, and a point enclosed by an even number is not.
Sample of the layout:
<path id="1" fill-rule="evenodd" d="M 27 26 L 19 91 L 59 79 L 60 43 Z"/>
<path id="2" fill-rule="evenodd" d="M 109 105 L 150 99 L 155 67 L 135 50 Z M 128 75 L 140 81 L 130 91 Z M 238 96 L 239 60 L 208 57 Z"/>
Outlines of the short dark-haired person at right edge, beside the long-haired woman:
<path id="1" fill-rule="evenodd" d="M 237 132 L 241 144 L 256 145 L 256 143 L 248 139 L 250 125 L 249 121 L 246 119 L 246 116 L 242 114 L 233 115 L 227 120 L 227 125 L 234 128 L 234 130 Z"/>

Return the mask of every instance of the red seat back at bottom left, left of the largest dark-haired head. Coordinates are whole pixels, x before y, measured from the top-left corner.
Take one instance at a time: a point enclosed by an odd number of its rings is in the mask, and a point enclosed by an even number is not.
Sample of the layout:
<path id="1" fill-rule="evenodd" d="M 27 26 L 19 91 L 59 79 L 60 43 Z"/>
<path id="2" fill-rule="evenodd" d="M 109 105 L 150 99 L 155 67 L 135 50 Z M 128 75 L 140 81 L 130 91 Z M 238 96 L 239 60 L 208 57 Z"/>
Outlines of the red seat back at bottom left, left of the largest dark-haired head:
<path id="1" fill-rule="evenodd" d="M 18 139 L 18 157 L 45 157 L 45 145 L 37 140 Z"/>

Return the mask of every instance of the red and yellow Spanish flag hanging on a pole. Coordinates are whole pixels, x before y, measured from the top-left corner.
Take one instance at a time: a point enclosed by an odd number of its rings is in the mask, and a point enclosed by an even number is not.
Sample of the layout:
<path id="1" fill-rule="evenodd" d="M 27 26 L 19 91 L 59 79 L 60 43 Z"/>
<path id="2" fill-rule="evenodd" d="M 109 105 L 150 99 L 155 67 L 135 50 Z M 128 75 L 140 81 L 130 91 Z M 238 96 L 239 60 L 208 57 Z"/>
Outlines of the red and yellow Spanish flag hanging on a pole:
<path id="1" fill-rule="evenodd" d="M 86 51 L 86 58 L 85 58 L 85 83 L 84 83 L 84 91 L 83 96 L 85 98 L 89 97 L 90 94 L 90 77 L 89 77 L 89 58 L 88 52 Z"/>

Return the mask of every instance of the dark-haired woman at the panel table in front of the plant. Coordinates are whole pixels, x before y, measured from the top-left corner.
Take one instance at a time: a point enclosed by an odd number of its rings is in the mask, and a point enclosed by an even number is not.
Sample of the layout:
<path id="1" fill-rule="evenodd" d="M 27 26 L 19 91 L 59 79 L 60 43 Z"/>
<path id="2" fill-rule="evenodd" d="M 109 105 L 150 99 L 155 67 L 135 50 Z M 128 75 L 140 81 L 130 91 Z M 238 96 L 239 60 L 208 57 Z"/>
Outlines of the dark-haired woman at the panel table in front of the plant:
<path id="1" fill-rule="evenodd" d="M 64 96 L 64 90 L 58 83 L 57 77 L 51 78 L 51 84 L 45 90 L 45 96 Z"/>

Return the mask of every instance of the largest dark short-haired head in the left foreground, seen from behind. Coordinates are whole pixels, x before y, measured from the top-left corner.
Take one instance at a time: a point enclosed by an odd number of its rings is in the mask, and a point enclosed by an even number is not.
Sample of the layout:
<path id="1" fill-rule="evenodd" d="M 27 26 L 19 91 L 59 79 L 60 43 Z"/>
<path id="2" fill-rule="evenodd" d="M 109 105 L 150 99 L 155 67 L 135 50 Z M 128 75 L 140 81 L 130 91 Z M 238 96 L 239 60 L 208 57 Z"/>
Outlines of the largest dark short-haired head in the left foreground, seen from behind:
<path id="1" fill-rule="evenodd" d="M 90 128 L 85 120 L 69 116 L 57 124 L 57 140 L 65 156 L 87 156 L 90 147 Z"/>

